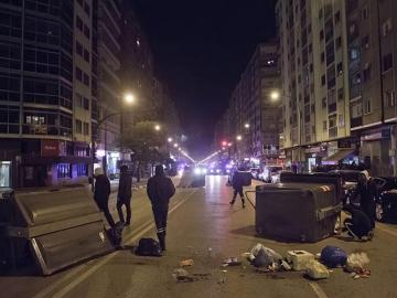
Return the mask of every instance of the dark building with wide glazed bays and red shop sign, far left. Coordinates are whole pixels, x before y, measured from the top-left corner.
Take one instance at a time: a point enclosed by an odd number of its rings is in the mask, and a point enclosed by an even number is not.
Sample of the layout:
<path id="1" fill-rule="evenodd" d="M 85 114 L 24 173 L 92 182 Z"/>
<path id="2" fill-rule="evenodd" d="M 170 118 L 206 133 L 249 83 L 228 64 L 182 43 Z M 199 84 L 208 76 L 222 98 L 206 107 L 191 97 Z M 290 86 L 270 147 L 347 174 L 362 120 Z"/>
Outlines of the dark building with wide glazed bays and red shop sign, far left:
<path id="1" fill-rule="evenodd" d="M 74 87 L 75 67 L 90 73 L 84 51 L 82 60 L 74 53 L 78 40 L 90 54 L 84 26 L 83 33 L 75 35 L 75 11 L 83 13 L 85 4 L 90 9 L 90 1 L 0 2 L 1 187 L 87 180 L 89 127 L 84 130 L 84 124 L 89 125 L 90 119 L 89 107 L 84 105 L 90 105 L 90 93 L 84 81 Z M 90 17 L 82 18 L 89 28 Z M 75 94 L 88 99 L 83 100 L 77 118 Z M 82 134 L 77 134 L 77 119 Z"/>

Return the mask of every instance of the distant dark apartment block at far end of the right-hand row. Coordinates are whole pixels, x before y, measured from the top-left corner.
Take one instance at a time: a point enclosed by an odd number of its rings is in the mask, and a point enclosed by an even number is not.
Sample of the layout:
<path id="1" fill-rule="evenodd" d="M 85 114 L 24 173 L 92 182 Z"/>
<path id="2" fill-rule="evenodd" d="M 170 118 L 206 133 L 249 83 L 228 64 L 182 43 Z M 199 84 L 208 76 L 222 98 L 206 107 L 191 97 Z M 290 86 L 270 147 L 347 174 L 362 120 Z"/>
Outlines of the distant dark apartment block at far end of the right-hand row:
<path id="1" fill-rule="evenodd" d="M 270 96 L 280 88 L 277 49 L 277 43 L 258 44 L 216 126 L 214 143 L 232 142 L 236 159 L 275 163 L 279 158 L 281 108 Z"/>

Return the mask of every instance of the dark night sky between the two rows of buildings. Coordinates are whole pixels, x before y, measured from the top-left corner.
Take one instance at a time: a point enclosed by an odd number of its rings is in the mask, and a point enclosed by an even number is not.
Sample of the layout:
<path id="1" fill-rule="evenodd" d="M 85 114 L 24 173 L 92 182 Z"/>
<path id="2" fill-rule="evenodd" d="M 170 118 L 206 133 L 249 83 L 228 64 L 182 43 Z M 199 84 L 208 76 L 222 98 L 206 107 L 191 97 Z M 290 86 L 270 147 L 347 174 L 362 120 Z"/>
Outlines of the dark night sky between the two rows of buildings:
<path id="1" fill-rule="evenodd" d="M 187 147 L 193 157 L 205 156 L 256 44 L 275 36 L 275 0 L 131 1 Z"/>

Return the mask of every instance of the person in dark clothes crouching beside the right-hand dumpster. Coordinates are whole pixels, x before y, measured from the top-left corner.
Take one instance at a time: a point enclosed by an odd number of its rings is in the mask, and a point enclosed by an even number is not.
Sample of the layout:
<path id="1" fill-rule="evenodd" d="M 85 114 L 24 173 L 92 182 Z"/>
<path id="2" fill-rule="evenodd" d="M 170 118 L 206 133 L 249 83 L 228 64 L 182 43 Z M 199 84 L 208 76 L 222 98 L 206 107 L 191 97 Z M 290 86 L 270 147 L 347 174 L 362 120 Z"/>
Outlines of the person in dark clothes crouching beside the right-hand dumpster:
<path id="1" fill-rule="evenodd" d="M 356 210 L 352 205 L 344 206 L 344 211 L 352 215 L 351 219 L 344 221 L 344 226 L 348 231 L 348 234 L 358 240 L 363 237 L 372 240 L 374 236 L 374 227 L 365 212 Z"/>

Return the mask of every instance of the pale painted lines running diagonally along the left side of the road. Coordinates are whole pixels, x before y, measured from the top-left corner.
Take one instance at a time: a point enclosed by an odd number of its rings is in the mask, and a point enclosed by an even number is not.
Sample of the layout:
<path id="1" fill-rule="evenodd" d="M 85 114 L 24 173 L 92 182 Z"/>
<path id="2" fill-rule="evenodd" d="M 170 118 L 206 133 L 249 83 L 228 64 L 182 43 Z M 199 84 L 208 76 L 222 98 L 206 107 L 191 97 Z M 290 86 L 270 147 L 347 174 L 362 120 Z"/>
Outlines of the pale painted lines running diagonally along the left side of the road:
<path id="1" fill-rule="evenodd" d="M 196 193 L 196 190 L 193 190 L 185 199 L 183 199 L 181 202 L 176 203 L 174 206 L 172 206 L 169 211 L 169 214 L 173 213 L 176 209 L 179 209 L 183 203 L 185 203 L 193 194 Z M 128 240 L 126 240 L 126 244 L 130 244 L 131 242 L 137 241 L 139 237 L 144 235 L 150 230 L 154 228 L 154 223 L 152 220 L 149 222 L 143 223 L 138 230 L 141 230 L 138 234 L 131 235 Z M 58 286 L 66 283 L 68 279 L 72 279 L 76 275 L 78 275 L 77 278 L 75 278 L 72 283 L 67 284 L 64 288 L 62 288 L 58 292 L 55 292 L 51 295 L 52 298 L 55 297 L 64 297 L 68 291 L 71 291 L 73 288 L 75 288 L 78 284 L 81 284 L 83 280 L 88 278 L 92 274 L 94 274 L 97 269 L 99 269 L 101 266 L 104 266 L 106 263 L 111 260 L 114 257 L 116 257 L 120 251 L 117 251 L 110 255 L 107 255 L 104 257 L 99 263 L 94 265 L 93 267 L 88 268 L 86 266 L 82 266 L 67 275 L 65 275 L 63 278 L 58 279 L 57 281 L 51 284 L 51 286 L 46 287 L 44 290 L 37 292 L 33 298 L 44 298 L 47 297 L 51 292 L 55 291 Z M 82 273 L 84 269 L 87 269 L 86 272 Z"/>

